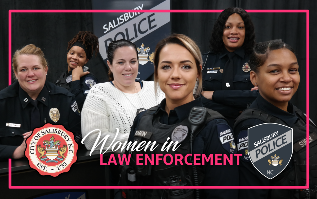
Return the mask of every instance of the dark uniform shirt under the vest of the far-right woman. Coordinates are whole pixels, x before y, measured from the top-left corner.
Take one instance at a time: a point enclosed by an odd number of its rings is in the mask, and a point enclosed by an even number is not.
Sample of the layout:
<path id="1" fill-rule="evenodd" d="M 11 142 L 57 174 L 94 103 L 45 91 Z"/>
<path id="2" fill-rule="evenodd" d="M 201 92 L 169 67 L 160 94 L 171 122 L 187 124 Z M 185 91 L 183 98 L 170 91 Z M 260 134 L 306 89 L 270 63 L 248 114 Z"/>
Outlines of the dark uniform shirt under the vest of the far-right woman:
<path id="1" fill-rule="evenodd" d="M 273 104 L 269 103 L 265 100 L 261 95 L 258 95 L 256 100 L 251 104 L 249 107 L 250 109 L 258 109 L 263 111 L 271 116 L 281 119 L 291 128 L 300 128 L 301 123 L 305 122 L 301 118 L 296 116 L 296 112 L 294 110 L 294 106 L 291 102 L 288 102 L 287 112 L 283 111 Z M 246 131 L 248 128 L 263 124 L 264 122 L 260 119 L 250 118 L 242 121 L 240 124 L 235 126 L 235 138 L 237 140 L 239 133 L 241 131 Z M 306 122 L 305 122 L 306 123 Z M 305 126 L 306 128 L 306 126 Z M 310 129 L 313 130 L 314 127 L 310 126 Z M 298 142 L 301 138 L 306 136 L 306 131 L 302 134 L 293 134 L 293 143 Z M 238 144 L 238 143 L 237 143 Z M 239 150 L 239 149 L 238 149 Z M 238 153 L 240 153 L 238 151 Z M 286 172 L 290 168 L 294 166 L 293 162 L 290 161 L 288 166 L 282 171 Z M 281 174 L 282 174 L 281 173 Z M 278 176 L 277 176 L 278 177 Z M 277 178 L 275 177 L 275 178 Z M 264 177 L 256 168 L 252 165 L 250 160 L 247 162 L 243 161 L 243 156 L 240 159 L 239 165 L 239 180 L 241 186 L 268 186 L 270 184 L 270 180 Z M 257 198 L 257 199 L 264 199 L 268 198 L 268 189 L 240 189 L 239 190 L 239 198 Z"/>

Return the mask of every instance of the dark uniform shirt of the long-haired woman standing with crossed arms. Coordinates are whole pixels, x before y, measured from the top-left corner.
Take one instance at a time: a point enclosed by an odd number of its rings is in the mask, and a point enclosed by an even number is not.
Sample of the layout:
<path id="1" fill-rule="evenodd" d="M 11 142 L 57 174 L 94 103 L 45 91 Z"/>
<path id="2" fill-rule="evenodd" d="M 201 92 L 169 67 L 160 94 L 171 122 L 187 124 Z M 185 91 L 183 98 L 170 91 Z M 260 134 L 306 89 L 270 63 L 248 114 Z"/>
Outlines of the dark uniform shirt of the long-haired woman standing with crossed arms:
<path id="1" fill-rule="evenodd" d="M 223 69 L 229 60 L 227 56 L 229 53 L 226 48 L 223 48 L 223 51 L 218 54 L 213 52 L 203 54 L 203 90 L 214 91 L 211 101 L 203 97 L 203 104 L 226 117 L 232 126 L 239 112 L 246 109 L 247 104 L 252 103 L 258 93 L 251 91 L 254 86 L 250 81 L 249 67 L 243 70 L 243 65 L 250 58 L 250 55 L 245 54 L 243 47 L 233 52 L 235 54 L 232 58 L 234 90 L 222 90 L 223 73 L 226 73 Z"/>

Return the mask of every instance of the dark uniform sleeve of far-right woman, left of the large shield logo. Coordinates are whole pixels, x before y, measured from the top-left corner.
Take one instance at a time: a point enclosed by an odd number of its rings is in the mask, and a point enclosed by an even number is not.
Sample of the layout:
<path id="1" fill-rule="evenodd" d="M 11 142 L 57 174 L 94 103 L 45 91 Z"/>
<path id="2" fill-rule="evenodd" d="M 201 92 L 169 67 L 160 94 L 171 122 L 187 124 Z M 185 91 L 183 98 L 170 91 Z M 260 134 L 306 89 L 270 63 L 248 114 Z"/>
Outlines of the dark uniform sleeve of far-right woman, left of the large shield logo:
<path id="1" fill-rule="evenodd" d="M 235 138 L 237 140 L 239 133 L 248 130 L 248 128 L 263 124 L 263 121 L 259 119 L 247 119 L 237 125 L 234 129 Z M 238 144 L 239 146 L 239 144 Z M 239 149 L 238 149 L 239 150 Z M 238 151 L 238 153 L 240 153 Z M 243 156 L 240 156 L 243 157 Z M 253 166 L 250 160 L 244 161 L 240 158 L 239 165 L 239 184 L 240 186 L 269 186 L 269 179 L 264 177 L 256 168 Z M 240 189 L 239 199 L 244 198 L 256 198 L 256 199 L 267 199 L 268 189 Z"/>

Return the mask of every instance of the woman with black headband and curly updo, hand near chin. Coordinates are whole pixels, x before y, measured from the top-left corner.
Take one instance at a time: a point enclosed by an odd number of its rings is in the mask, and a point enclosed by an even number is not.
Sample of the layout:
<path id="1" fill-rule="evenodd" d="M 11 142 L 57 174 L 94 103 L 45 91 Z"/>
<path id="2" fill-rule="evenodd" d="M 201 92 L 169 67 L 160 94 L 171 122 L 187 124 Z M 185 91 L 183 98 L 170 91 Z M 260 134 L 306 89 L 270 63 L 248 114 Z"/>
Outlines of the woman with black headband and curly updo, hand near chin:
<path id="1" fill-rule="evenodd" d="M 83 67 L 99 52 L 98 37 L 88 31 L 80 31 L 68 42 L 67 47 L 68 70 L 63 72 L 56 81 L 56 85 L 64 87 L 76 97 L 79 110 L 81 111 L 84 101 L 91 87 L 98 84 L 97 78 L 88 71 L 84 72 Z"/>

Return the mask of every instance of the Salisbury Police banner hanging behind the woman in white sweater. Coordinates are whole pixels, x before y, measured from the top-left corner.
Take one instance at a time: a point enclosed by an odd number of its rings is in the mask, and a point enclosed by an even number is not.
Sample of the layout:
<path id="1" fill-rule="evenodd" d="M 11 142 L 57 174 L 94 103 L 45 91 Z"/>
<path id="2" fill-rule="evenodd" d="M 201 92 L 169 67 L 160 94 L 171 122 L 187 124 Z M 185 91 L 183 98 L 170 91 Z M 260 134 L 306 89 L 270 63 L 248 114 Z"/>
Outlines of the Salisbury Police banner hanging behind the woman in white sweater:
<path id="1" fill-rule="evenodd" d="M 168 10 L 170 0 L 128 1 L 93 0 L 93 9 Z M 99 38 L 99 51 L 107 65 L 109 43 L 126 39 L 138 47 L 139 74 L 146 80 L 154 72 L 153 55 L 156 44 L 171 34 L 170 13 L 93 13 L 94 34 Z"/>

